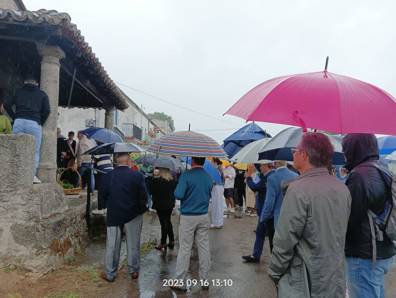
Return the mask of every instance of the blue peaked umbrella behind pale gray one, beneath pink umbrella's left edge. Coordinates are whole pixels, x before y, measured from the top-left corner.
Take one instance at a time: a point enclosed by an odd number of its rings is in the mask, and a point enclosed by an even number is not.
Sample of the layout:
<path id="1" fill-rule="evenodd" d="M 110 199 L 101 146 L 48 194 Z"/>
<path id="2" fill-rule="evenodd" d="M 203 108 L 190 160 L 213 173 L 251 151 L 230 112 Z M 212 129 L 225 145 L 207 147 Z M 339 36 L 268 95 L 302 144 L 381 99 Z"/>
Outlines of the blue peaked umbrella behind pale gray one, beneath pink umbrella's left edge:
<path id="1" fill-rule="evenodd" d="M 247 144 L 264 139 L 265 137 L 264 129 L 252 122 L 238 129 L 235 133 L 225 139 L 223 149 L 227 152 L 229 158 L 232 158 L 232 156 Z M 267 133 L 267 137 L 271 138 L 271 135 Z"/>

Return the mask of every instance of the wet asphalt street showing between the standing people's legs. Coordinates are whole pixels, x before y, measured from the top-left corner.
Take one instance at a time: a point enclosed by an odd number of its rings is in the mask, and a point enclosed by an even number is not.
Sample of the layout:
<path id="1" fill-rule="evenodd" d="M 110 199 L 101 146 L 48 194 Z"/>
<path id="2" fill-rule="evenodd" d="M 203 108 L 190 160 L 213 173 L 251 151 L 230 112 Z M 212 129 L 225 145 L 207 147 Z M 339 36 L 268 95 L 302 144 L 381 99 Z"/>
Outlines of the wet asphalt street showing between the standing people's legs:
<path id="1" fill-rule="evenodd" d="M 210 209 L 211 206 L 209 206 L 209 218 L 211 218 Z M 118 272 L 115 282 L 111 284 L 111 289 L 103 289 L 99 297 L 276 297 L 274 284 L 267 276 L 270 256 L 268 238 L 266 238 L 264 244 L 260 263 L 249 263 L 242 260 L 243 254 L 251 254 L 253 250 L 255 240 L 253 229 L 257 225 L 257 217 L 246 216 L 243 211 L 236 211 L 233 215 L 235 215 L 235 218 L 224 218 L 224 225 L 221 230 L 209 230 L 211 258 L 209 279 L 232 280 L 232 286 L 213 286 L 211 282 L 209 291 L 203 291 L 198 284 L 189 287 L 187 292 L 171 290 L 164 286 L 164 279 L 175 279 L 175 266 L 179 248 L 177 233 L 179 211 L 174 210 L 171 220 L 175 233 L 175 249 L 168 248 L 168 251 L 151 249 L 142 259 L 138 279 L 131 279 L 128 270 L 122 268 Z M 93 222 L 95 225 L 105 224 L 103 219 L 95 217 Z M 160 235 L 160 224 L 156 213 L 145 213 L 143 215 L 141 243 L 155 238 L 159 241 Z M 103 270 L 105 246 L 105 240 L 89 243 L 83 254 L 79 256 L 76 266 Z M 123 241 L 120 262 L 125 256 L 126 243 Z M 198 270 L 198 251 L 194 243 L 188 278 L 199 280 Z M 386 278 L 386 297 L 396 297 L 392 294 L 396 290 L 395 276 L 396 268 L 391 268 Z"/>

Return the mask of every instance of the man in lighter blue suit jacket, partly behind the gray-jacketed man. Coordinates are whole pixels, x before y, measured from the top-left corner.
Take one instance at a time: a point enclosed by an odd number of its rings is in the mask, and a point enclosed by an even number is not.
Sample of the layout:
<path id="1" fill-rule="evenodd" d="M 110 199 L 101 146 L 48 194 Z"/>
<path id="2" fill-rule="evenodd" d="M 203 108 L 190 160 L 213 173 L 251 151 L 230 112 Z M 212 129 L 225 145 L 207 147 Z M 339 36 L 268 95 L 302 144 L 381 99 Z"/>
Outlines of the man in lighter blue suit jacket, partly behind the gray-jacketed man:
<path id="1" fill-rule="evenodd" d="M 283 193 L 281 189 L 282 180 L 293 179 L 298 176 L 287 169 L 286 160 L 275 161 L 275 173 L 267 179 L 267 195 L 264 202 L 263 211 L 260 220 L 265 224 L 268 231 L 268 239 L 270 241 L 270 251 L 272 253 L 272 240 L 274 239 L 276 222 L 278 222 L 280 207 L 282 207 Z"/>

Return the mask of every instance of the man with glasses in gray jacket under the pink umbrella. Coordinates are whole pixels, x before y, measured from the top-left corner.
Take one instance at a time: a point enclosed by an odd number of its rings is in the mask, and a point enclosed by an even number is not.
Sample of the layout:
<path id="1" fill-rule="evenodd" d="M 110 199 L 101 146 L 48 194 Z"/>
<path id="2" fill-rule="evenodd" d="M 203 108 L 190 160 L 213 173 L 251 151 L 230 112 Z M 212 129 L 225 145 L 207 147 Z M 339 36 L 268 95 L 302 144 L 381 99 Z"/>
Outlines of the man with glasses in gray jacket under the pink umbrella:
<path id="1" fill-rule="evenodd" d="M 292 149 L 301 175 L 282 181 L 286 192 L 274 235 L 268 276 L 279 297 L 345 297 L 348 188 L 329 174 L 334 146 L 323 133 L 304 133 Z"/>

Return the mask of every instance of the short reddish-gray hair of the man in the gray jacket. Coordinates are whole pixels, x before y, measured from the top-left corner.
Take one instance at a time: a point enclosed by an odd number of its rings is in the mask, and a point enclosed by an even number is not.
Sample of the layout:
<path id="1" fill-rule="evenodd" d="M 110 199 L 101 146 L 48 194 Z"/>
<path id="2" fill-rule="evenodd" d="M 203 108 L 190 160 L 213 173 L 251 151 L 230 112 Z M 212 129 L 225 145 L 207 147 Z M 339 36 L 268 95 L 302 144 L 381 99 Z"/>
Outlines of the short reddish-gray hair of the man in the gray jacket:
<path id="1" fill-rule="evenodd" d="M 300 141 L 300 150 L 307 152 L 308 161 L 313 167 L 329 167 L 334 155 L 334 145 L 324 133 L 307 132 Z"/>

